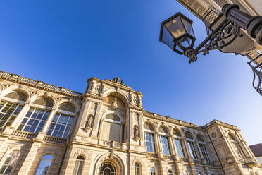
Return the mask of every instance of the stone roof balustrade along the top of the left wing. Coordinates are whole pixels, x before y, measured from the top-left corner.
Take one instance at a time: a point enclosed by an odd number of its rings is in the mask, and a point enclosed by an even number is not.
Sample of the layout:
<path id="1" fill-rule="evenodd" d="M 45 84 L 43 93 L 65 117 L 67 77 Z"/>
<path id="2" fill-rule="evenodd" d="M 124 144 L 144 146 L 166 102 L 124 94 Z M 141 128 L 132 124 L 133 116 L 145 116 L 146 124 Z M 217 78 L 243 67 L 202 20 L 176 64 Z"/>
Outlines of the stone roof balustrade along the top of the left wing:
<path id="1" fill-rule="evenodd" d="M 80 93 L 80 92 L 75 92 L 73 90 L 68 90 L 68 89 L 63 88 L 63 87 L 50 85 L 50 84 L 44 83 L 42 81 L 32 80 L 30 78 L 25 78 L 23 76 L 18 76 L 18 75 L 15 75 L 15 74 L 4 72 L 4 71 L 0 71 L 0 76 L 6 76 L 6 77 L 10 77 L 10 78 L 15 78 L 17 80 L 22 80 L 22 81 L 25 81 L 27 83 L 32 83 L 32 84 L 35 84 L 35 85 L 41 85 L 41 86 L 47 87 L 49 89 L 63 91 L 63 92 L 66 92 L 68 94 L 73 94 L 73 95 L 78 95 L 78 96 L 82 95 L 82 93 Z"/>

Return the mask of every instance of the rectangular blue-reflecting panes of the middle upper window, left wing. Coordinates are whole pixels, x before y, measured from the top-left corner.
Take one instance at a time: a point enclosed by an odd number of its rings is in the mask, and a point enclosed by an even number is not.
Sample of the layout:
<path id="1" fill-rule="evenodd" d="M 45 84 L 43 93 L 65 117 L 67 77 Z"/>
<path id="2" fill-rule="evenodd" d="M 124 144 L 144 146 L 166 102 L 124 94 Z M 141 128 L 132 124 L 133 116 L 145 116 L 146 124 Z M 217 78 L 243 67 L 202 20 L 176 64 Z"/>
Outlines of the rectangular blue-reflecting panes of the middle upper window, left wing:
<path id="1" fill-rule="evenodd" d="M 38 133 L 39 131 L 42 131 L 49 114 L 49 111 L 31 107 L 25 115 L 23 121 L 20 123 L 18 130 L 30 133 Z"/>

